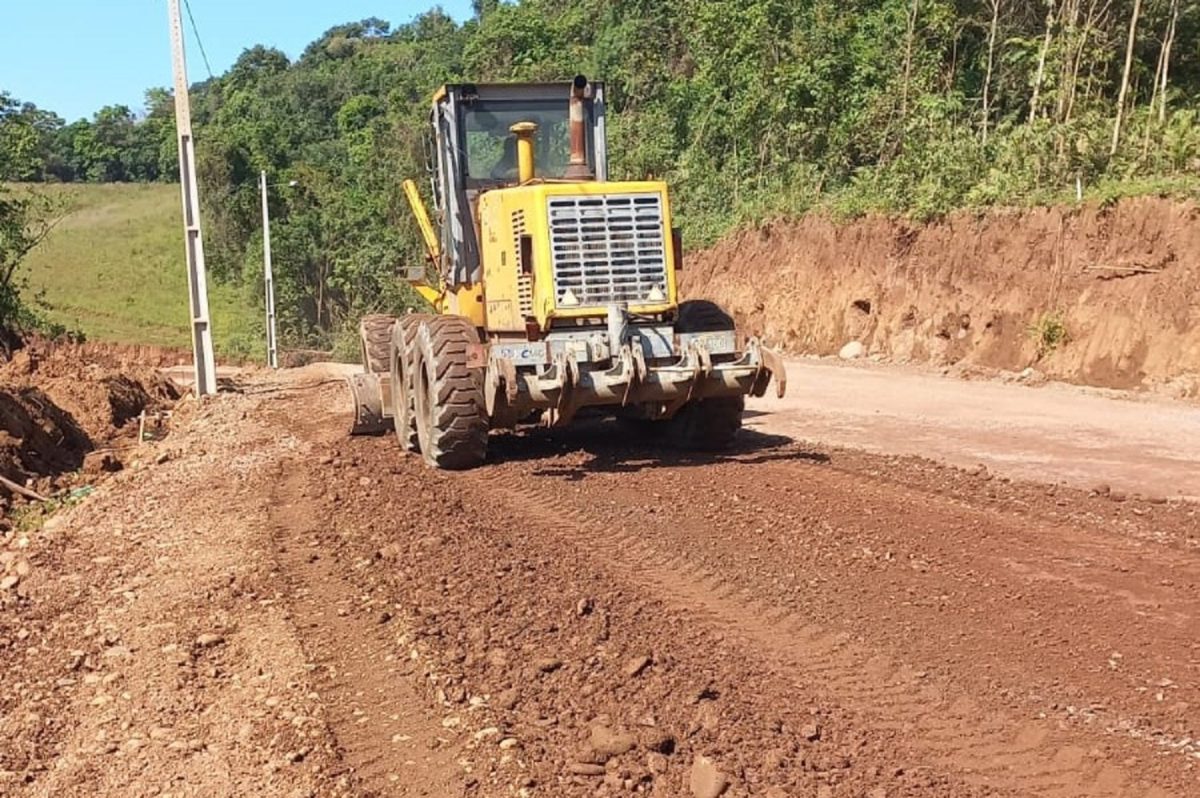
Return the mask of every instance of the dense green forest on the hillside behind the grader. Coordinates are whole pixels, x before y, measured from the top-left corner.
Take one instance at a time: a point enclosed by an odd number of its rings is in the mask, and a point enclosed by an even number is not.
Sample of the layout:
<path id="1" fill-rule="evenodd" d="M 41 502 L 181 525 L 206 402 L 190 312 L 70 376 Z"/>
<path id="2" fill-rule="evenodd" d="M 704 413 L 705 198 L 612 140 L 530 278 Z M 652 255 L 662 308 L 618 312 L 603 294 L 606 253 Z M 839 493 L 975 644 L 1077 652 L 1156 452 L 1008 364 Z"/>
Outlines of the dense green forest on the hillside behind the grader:
<path id="1" fill-rule="evenodd" d="M 196 86 L 209 260 L 257 284 L 257 178 L 294 342 L 412 301 L 400 180 L 446 80 L 604 78 L 618 176 L 671 181 L 694 245 L 814 206 L 934 217 L 1194 191 L 1200 0 L 522 0 L 252 47 Z M 0 180 L 172 180 L 169 94 L 65 124 L 0 95 Z M 288 186 L 295 181 L 294 186 Z"/>

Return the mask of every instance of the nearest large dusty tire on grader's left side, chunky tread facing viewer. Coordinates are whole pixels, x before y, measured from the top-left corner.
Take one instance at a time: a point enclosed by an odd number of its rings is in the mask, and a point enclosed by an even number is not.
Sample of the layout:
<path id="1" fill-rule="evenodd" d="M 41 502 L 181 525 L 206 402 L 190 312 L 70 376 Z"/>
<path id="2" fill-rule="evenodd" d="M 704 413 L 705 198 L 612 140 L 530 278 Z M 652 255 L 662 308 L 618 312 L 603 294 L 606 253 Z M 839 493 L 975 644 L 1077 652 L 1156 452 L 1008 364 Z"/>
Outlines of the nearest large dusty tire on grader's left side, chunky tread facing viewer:
<path id="1" fill-rule="evenodd" d="M 487 458 L 484 373 L 467 367 L 467 350 L 478 343 L 475 326 L 461 316 L 439 316 L 418 326 L 416 432 L 425 462 L 437 468 L 474 468 Z"/>

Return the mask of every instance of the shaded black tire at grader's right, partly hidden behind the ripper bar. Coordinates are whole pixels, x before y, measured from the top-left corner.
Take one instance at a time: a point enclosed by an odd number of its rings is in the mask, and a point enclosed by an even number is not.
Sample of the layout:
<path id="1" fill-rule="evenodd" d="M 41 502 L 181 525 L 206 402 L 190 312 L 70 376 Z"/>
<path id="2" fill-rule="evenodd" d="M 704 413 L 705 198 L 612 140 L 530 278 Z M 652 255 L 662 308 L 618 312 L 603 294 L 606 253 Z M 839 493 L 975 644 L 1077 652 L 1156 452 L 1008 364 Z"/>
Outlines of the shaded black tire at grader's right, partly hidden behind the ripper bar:
<path id="1" fill-rule="evenodd" d="M 733 317 L 716 302 L 689 300 L 679 304 L 678 332 L 732 330 Z M 744 396 L 714 396 L 684 404 L 667 421 L 667 439 L 673 446 L 691 451 L 724 451 L 733 445 L 742 428 Z"/>

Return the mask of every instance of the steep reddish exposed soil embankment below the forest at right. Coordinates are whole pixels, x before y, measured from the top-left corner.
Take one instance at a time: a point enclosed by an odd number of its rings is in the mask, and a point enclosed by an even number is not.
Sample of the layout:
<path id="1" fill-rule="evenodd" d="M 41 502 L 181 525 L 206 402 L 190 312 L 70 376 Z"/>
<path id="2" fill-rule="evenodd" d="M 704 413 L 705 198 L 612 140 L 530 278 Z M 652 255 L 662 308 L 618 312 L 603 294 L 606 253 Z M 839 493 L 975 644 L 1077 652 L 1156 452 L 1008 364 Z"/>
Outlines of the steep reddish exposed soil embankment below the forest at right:
<path id="1" fill-rule="evenodd" d="M 1200 208 L 958 214 L 931 224 L 823 216 L 692 256 L 684 293 L 802 353 L 859 341 L 898 361 L 1200 395 Z"/>

